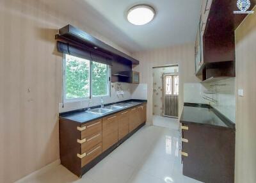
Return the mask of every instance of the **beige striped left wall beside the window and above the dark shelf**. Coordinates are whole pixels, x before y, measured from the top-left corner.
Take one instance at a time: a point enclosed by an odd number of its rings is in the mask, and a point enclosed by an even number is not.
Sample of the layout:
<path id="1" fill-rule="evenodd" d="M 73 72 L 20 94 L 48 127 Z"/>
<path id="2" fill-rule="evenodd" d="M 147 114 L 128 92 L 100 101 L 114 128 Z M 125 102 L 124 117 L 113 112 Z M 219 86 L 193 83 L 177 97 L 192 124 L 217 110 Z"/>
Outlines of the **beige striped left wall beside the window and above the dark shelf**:
<path id="1" fill-rule="evenodd" d="M 124 51 L 83 22 L 51 10 L 45 1 L 0 1 L 0 182 L 4 183 L 59 158 L 57 29 L 72 24 Z"/>

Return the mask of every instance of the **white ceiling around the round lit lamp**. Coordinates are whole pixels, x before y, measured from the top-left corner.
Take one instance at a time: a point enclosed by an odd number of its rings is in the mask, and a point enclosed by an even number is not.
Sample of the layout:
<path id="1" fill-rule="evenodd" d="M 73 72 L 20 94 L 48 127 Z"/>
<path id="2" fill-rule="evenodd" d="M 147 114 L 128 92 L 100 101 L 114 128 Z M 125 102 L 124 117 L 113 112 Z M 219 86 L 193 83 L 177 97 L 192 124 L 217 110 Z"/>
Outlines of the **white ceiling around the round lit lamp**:
<path id="1" fill-rule="evenodd" d="M 195 42 L 201 0 L 54 0 L 51 8 L 86 23 L 100 35 L 129 52 Z M 61 6 L 59 6 L 61 3 Z M 152 22 L 134 26 L 127 21 L 131 6 L 150 4 L 156 10 Z M 71 11 L 70 11 L 71 10 Z M 68 23 L 68 22 L 67 22 Z"/>

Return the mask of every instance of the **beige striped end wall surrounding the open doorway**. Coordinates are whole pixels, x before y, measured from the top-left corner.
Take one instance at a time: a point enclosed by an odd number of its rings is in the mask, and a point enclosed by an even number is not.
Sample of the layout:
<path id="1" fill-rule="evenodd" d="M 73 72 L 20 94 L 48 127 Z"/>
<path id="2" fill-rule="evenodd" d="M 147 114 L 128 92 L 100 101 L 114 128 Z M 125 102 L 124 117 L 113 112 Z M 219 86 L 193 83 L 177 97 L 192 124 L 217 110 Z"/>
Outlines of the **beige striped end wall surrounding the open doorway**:
<path id="1" fill-rule="evenodd" d="M 183 84 L 198 83 L 200 80 L 195 76 L 195 44 L 184 44 L 153 51 L 135 52 L 134 58 L 140 60 L 140 65 L 134 70 L 140 72 L 140 82 L 148 86 L 147 122 L 152 123 L 152 94 L 153 76 L 152 67 L 159 65 L 179 64 L 179 115 L 183 107 Z"/>

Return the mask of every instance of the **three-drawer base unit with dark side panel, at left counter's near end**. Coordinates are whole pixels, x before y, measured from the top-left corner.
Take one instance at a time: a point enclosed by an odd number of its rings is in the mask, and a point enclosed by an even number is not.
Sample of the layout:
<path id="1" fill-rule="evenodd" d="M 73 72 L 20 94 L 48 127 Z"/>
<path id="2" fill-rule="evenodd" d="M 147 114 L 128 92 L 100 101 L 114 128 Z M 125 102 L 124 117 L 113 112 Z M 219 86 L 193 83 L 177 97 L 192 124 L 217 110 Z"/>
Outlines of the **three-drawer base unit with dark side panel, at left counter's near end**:
<path id="1" fill-rule="evenodd" d="M 60 118 L 60 159 L 81 176 L 81 168 L 102 153 L 102 119 L 79 125 Z"/>

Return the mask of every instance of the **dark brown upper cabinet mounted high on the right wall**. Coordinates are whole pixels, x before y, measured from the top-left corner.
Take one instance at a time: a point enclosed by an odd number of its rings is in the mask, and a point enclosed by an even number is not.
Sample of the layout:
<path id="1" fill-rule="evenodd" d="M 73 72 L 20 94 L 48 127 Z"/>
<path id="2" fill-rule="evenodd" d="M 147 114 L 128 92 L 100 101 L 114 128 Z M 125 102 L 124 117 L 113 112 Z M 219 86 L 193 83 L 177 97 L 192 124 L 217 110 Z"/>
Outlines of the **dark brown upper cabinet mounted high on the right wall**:
<path id="1" fill-rule="evenodd" d="M 202 23 L 199 29 L 200 35 L 202 34 L 200 36 L 202 54 L 198 59 L 200 63 L 196 63 L 196 76 L 201 77 L 202 81 L 235 77 L 235 30 L 246 14 L 233 13 L 234 10 L 237 10 L 236 1 L 212 0 L 203 4 L 206 5 L 202 10 Z M 254 5 L 255 1 L 252 1 L 249 10 Z M 197 48 L 198 42 L 195 45 Z"/>

